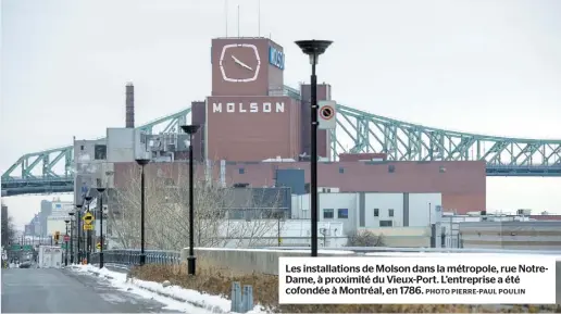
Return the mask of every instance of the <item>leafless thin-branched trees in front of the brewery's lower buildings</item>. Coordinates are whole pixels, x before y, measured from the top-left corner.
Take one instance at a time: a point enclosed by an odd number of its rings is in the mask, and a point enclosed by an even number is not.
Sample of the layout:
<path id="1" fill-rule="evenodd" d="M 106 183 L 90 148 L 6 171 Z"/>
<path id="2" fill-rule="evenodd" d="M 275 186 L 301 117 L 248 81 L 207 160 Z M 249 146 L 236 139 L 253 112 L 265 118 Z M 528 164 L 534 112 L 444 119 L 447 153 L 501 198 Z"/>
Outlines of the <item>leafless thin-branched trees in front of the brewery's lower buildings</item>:
<path id="1" fill-rule="evenodd" d="M 149 167 L 152 167 L 148 171 Z M 177 178 L 146 166 L 145 226 L 149 249 L 178 250 L 188 246 L 188 163 L 176 163 Z M 155 169 L 155 172 L 154 172 Z M 155 175 L 154 175 L 155 173 Z M 110 224 L 121 247 L 140 246 L 140 171 L 134 167 L 128 185 L 116 190 Z M 276 243 L 265 237 L 277 229 L 280 193 L 265 189 L 225 188 L 202 176 L 195 179 L 195 244 L 197 247 L 254 247 Z"/>

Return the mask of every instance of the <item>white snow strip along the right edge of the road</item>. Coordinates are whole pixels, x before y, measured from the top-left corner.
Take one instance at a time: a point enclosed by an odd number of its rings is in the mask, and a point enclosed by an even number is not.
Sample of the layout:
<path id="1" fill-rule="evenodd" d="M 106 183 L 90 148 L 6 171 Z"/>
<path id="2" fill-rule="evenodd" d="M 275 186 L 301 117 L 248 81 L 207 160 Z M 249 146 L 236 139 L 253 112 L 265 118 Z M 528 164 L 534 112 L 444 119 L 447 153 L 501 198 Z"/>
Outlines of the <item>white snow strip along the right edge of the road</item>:
<path id="1" fill-rule="evenodd" d="M 230 313 L 230 301 L 220 296 L 201 293 L 196 290 L 185 289 L 179 286 L 164 287 L 161 282 L 140 279 L 127 280 L 127 274 L 112 272 L 108 268 L 99 268 L 94 265 L 73 265 L 68 267 L 74 272 L 86 273 L 108 279 L 111 285 L 120 290 L 128 291 L 147 299 L 153 299 L 167 305 L 165 309 L 182 311 L 189 314 Z M 255 306 L 248 313 L 265 313 Z"/>

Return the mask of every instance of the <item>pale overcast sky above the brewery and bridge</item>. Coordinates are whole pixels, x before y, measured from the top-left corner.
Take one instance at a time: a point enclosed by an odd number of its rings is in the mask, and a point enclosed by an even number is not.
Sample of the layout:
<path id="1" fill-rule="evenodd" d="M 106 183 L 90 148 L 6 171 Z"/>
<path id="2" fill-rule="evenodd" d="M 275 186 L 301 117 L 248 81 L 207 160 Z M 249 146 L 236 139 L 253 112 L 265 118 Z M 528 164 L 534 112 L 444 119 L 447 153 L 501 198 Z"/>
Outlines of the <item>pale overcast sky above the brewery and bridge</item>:
<path id="1" fill-rule="evenodd" d="M 22 154 L 210 93 L 210 43 L 271 36 L 285 83 L 309 77 L 298 39 L 331 39 L 319 80 L 338 102 L 427 126 L 561 139 L 561 1 L 3 0 L 0 172 Z M 259 23 L 261 21 L 261 23 Z M 260 27 L 259 27 L 260 24 Z M 489 178 L 491 210 L 561 212 L 559 178 Z M 46 197 L 4 201 L 20 225 Z M 48 197 L 50 199 L 51 197 Z"/>

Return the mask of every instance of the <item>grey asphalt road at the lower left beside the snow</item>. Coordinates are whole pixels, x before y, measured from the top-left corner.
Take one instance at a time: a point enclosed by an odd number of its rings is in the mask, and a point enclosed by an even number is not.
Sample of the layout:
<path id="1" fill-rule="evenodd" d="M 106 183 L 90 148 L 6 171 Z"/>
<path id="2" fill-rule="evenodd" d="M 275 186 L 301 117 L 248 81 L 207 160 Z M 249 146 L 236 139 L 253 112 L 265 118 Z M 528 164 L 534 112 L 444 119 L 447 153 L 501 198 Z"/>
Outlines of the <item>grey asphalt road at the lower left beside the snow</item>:
<path id="1" fill-rule="evenodd" d="M 2 313 L 172 313 L 163 307 L 67 269 L 2 269 Z"/>

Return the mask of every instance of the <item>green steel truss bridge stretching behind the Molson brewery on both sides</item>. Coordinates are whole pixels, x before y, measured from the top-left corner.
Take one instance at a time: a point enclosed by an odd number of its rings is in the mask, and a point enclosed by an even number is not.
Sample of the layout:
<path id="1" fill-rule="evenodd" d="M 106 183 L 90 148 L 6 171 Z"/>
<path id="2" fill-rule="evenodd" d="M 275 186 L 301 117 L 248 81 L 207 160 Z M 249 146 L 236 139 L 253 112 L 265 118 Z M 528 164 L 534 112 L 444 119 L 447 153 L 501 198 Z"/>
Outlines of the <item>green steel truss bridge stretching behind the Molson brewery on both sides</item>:
<path id="1" fill-rule="evenodd" d="M 300 98 L 292 88 L 286 88 L 285 93 Z M 154 127 L 164 126 L 161 133 L 177 133 L 179 126 L 187 123 L 190 112 L 187 108 L 138 128 L 152 134 Z M 332 131 L 331 138 L 333 160 L 341 152 L 385 152 L 389 161 L 484 160 L 488 176 L 561 177 L 561 140 L 451 131 L 342 104 L 337 105 L 337 129 Z M 73 191 L 73 149 L 66 146 L 24 154 L 2 174 L 2 196 Z"/>

